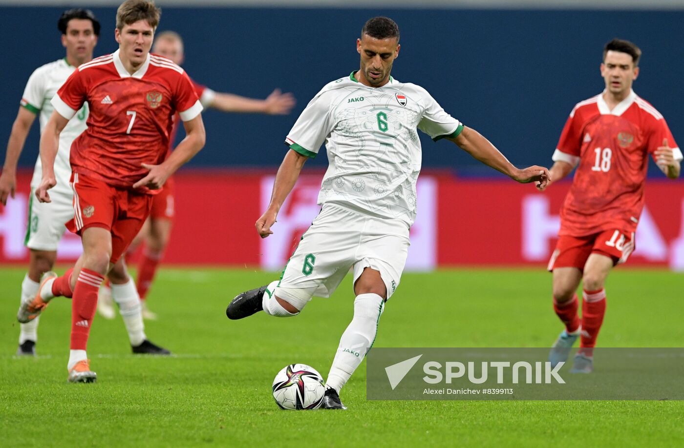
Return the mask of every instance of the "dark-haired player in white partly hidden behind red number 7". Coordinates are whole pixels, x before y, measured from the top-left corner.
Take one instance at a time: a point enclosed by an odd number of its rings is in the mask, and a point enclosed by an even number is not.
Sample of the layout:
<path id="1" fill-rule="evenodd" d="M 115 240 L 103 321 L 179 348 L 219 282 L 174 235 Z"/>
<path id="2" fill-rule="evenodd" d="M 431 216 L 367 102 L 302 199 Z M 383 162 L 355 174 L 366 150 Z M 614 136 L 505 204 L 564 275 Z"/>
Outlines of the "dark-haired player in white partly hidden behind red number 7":
<path id="1" fill-rule="evenodd" d="M 40 130 L 42 132 L 54 110 L 50 102 L 51 99 L 78 66 L 92 59 L 92 53 L 100 33 L 100 23 L 94 14 L 90 10 L 81 8 L 65 11 L 57 21 L 57 28 L 62 32 L 62 45 L 66 48 L 66 57 L 37 68 L 29 78 L 21 99 L 21 107 L 12 126 L 5 164 L 0 176 L 0 201 L 2 204 L 6 204 L 9 196 L 14 197 L 17 161 L 36 115 L 40 114 Z M 73 119 L 69 120 L 60 133 L 59 150 L 55 159 L 57 184 L 51 190 L 51 203 L 40 203 L 33 194 L 29 199 L 29 219 L 25 244 L 30 249 L 30 258 L 29 272 L 21 284 L 22 304 L 29 303 L 34 299 L 38 292 L 40 278 L 45 272 L 52 269 L 57 257 L 57 244 L 64 234 L 64 223 L 74 216 L 73 191 L 69 186 L 71 177 L 69 154 L 71 143 L 83 130 L 86 130 L 87 119 L 88 104 L 86 103 Z M 38 157 L 34 176 L 31 179 L 31 192 L 35 191 L 40 184 L 41 175 L 42 167 L 40 157 Z M 114 277 L 118 283 L 121 283 L 115 288 L 115 300 L 120 304 L 120 311 L 129 332 L 133 351 L 168 354 L 168 350 L 146 340 L 142 318 L 139 317 L 140 299 L 137 298 L 133 282 L 130 279 L 129 282 L 125 281 L 127 273 L 124 264 L 117 266 Z M 18 355 L 35 354 L 36 341 L 38 340 L 38 320 L 39 318 L 36 317 L 21 324 Z"/>

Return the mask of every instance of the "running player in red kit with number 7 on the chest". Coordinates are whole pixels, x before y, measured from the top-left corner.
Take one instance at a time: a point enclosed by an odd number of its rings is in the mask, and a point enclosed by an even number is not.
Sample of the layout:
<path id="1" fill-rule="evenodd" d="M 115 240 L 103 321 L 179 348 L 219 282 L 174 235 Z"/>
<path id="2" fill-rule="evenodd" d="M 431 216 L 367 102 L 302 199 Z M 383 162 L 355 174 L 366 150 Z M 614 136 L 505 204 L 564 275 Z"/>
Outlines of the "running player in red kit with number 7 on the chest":
<path id="1" fill-rule="evenodd" d="M 142 227 L 153 195 L 205 143 L 202 105 L 189 77 L 172 61 L 150 55 L 159 14 L 152 0 L 120 5 L 118 51 L 83 64 L 67 79 L 40 139 L 43 171 L 36 197 L 49 202 L 60 130 L 83 102 L 90 104 L 88 129 L 70 155 L 75 215 L 67 227 L 81 236 L 83 255 L 64 276 L 44 279 L 26 310 L 38 316 L 53 296 L 73 296 L 70 382 L 96 379 L 86 346 L 104 276 Z M 176 111 L 187 136 L 166 158 Z"/>

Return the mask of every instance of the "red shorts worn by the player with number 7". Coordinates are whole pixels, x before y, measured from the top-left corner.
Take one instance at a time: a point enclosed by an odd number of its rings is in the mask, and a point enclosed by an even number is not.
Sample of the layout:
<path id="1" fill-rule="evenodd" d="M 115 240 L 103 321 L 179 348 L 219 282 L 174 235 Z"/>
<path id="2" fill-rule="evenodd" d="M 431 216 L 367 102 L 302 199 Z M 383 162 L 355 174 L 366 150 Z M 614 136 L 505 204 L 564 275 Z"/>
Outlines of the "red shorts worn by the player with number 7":
<path id="1" fill-rule="evenodd" d="M 150 214 L 152 195 L 114 188 L 102 180 L 71 174 L 74 218 L 66 228 L 81 235 L 88 227 L 102 227 L 111 233 L 111 258 L 116 263 L 140 231 Z"/>

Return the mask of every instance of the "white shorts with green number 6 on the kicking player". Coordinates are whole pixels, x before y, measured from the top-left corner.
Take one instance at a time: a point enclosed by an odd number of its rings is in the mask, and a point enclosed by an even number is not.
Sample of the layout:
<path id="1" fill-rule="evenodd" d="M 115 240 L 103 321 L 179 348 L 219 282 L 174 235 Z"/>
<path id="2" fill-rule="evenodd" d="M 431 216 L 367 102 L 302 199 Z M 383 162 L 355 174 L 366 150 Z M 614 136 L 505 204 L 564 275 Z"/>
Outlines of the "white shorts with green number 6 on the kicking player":
<path id="1" fill-rule="evenodd" d="M 380 271 L 389 299 L 399 285 L 408 255 L 408 227 L 338 204 L 324 204 L 282 270 L 282 288 L 316 288 L 329 297 L 350 268 L 354 282 L 364 268 Z"/>

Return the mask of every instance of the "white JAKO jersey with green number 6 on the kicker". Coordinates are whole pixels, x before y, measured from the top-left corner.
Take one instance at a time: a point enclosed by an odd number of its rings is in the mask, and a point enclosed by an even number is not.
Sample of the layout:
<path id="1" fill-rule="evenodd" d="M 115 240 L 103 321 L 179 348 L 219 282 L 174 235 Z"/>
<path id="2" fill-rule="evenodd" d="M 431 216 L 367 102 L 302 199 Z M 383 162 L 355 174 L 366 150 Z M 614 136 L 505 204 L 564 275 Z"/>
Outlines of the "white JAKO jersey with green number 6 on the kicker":
<path id="1" fill-rule="evenodd" d="M 285 143 L 312 158 L 326 143 L 330 165 L 318 204 L 342 204 L 410 227 L 422 157 L 417 129 L 436 141 L 462 128 L 423 87 L 392 77 L 382 87 L 367 87 L 352 72 L 321 89 Z"/>

